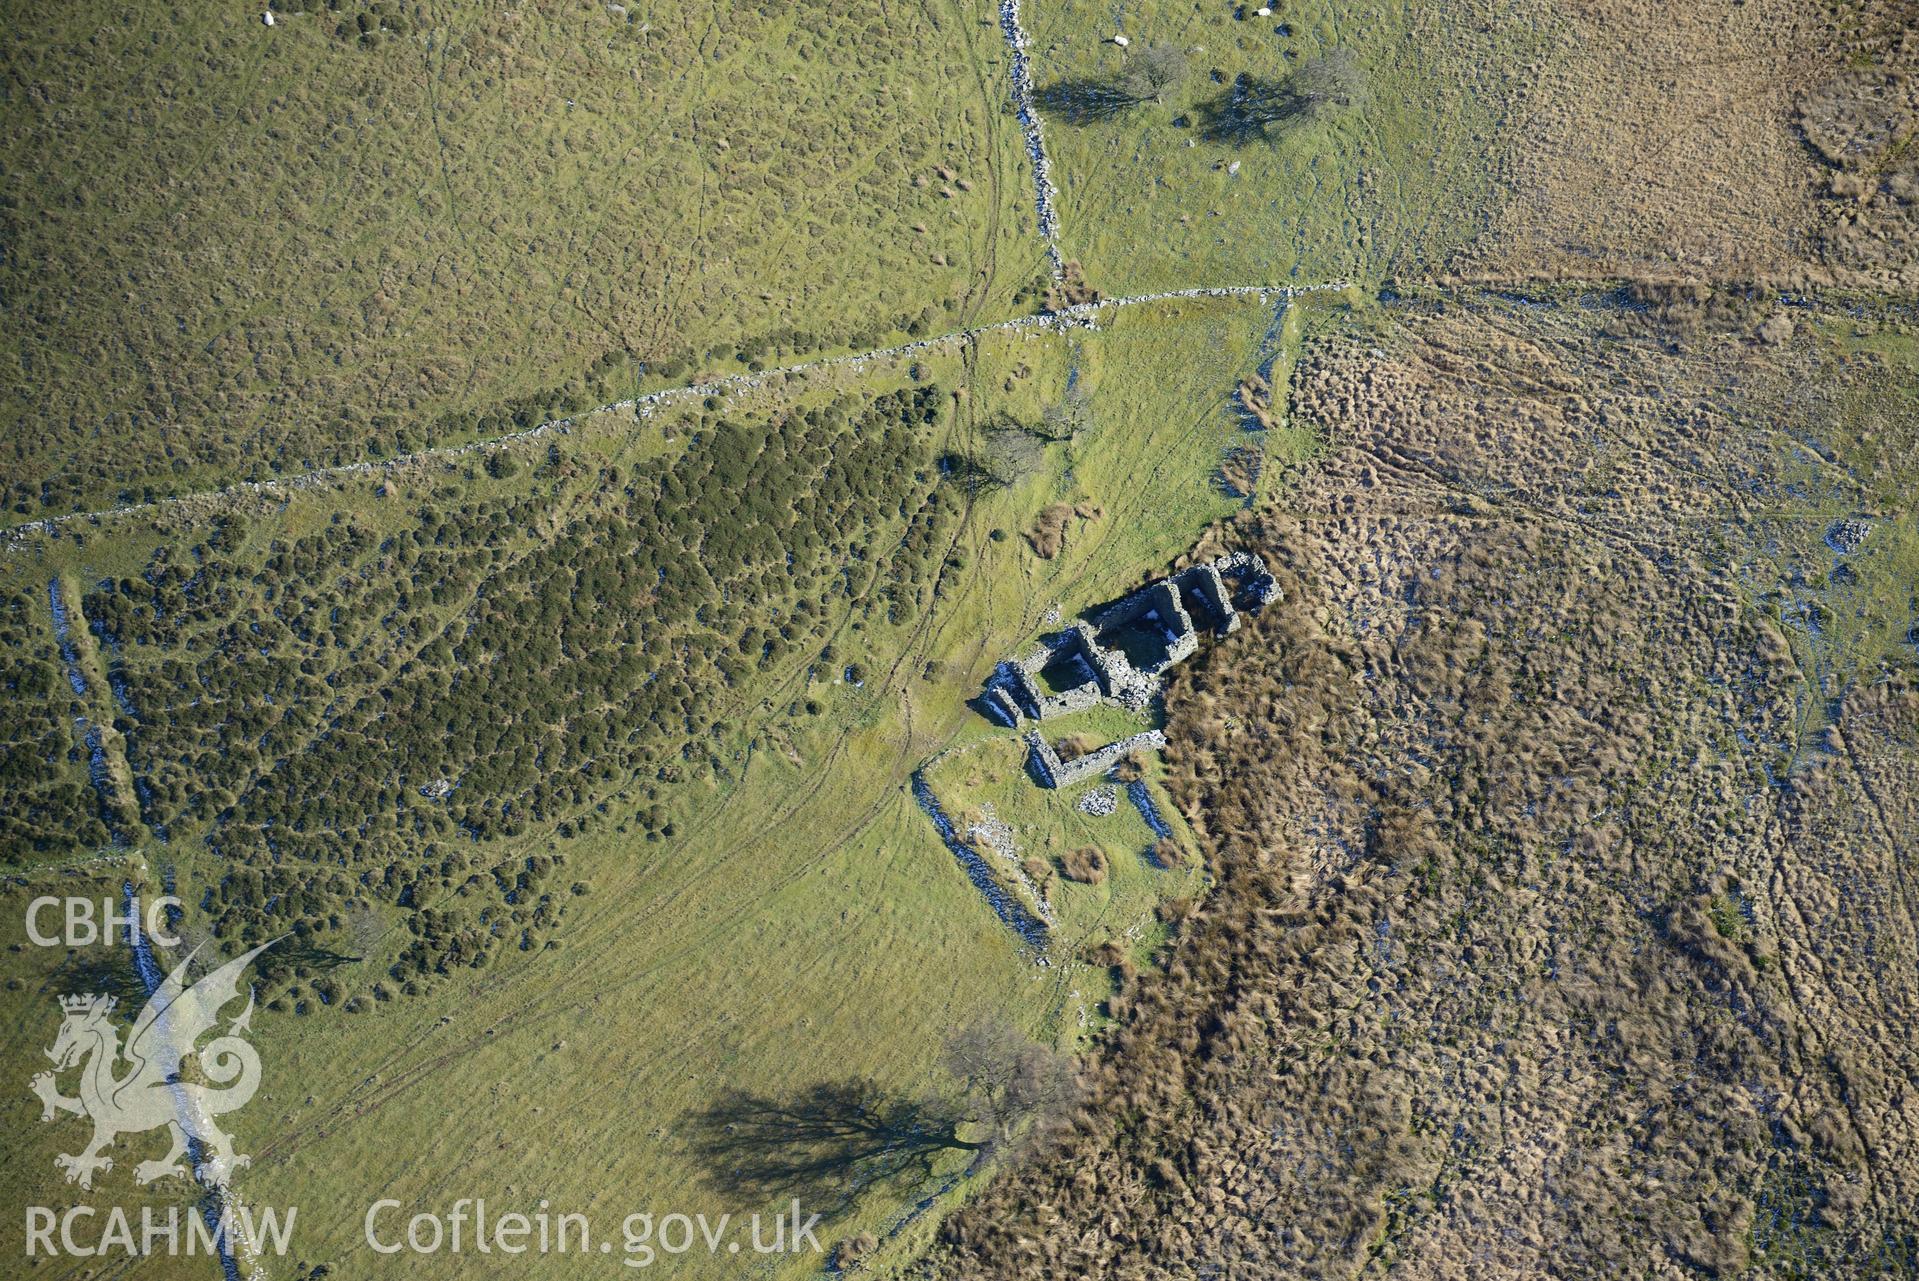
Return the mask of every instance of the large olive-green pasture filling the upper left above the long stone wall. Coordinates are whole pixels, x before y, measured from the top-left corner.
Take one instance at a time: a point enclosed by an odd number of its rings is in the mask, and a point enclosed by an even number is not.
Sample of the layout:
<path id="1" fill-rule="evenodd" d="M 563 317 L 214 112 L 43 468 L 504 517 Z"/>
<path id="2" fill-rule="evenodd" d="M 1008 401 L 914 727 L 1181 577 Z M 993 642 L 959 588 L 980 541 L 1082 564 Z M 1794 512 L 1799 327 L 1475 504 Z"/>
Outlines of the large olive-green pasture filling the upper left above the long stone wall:
<path id="1" fill-rule="evenodd" d="M 1040 270 L 986 6 L 311 10 L 13 15 L 15 514 L 948 332 Z"/>

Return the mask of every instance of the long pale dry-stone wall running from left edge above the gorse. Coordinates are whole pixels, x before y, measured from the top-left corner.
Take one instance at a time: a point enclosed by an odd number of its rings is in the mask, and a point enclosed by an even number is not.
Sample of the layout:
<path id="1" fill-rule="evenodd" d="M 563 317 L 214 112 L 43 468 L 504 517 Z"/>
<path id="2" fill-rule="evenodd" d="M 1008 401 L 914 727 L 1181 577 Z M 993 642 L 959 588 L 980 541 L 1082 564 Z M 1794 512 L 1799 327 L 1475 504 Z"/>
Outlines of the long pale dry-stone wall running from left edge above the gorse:
<path id="1" fill-rule="evenodd" d="M 150 512 L 165 512 L 177 506 L 194 504 L 228 504 L 246 499 L 271 499 L 296 493 L 299 489 L 319 489 L 322 485 L 353 479 L 357 476 L 384 476 L 390 472 L 405 472 L 409 468 L 445 462 L 459 458 L 462 454 L 491 453 L 497 449 L 507 449 L 510 445 L 539 439 L 543 435 L 566 435 L 574 426 L 581 424 L 595 414 L 606 412 L 633 412 L 639 420 L 649 418 L 654 410 L 677 405 L 681 401 L 699 401 L 708 395 L 718 395 L 723 391 L 750 391 L 754 387 L 766 385 L 775 378 L 806 376 L 825 370 L 858 370 L 879 361 L 898 361 L 923 351 L 946 351 L 950 347 L 963 347 L 986 334 L 998 332 L 1017 332 L 1017 330 L 1071 330 L 1071 328 L 1092 328 L 1098 324 L 1100 313 L 1119 307 L 1142 307 L 1149 303 L 1167 303 L 1178 299 L 1197 299 L 1197 297 L 1257 297 L 1261 301 L 1274 297 L 1291 297 L 1299 293 L 1326 293 L 1345 290 L 1345 282 L 1330 284 L 1234 284 L 1234 286 L 1213 286 L 1197 290 L 1167 290 L 1163 293 L 1134 293 L 1130 297 L 1109 297 L 1098 303 L 1080 303 L 1077 307 L 1065 307 L 1061 311 L 1038 313 L 1032 316 L 1013 316 L 1011 320 L 996 320 L 992 324 L 979 324 L 967 330 L 956 330 L 952 334 L 942 334 L 938 338 L 921 338 L 910 343 L 900 343 L 896 347 L 875 347 L 873 351 L 858 351 L 844 357 L 823 357 L 819 361 L 802 361 L 800 364 L 785 364 L 781 368 L 771 368 L 762 374 L 733 374 L 729 378 L 718 378 L 714 382 L 693 384 L 687 387 L 664 387 L 660 391 L 649 391 L 647 395 L 614 401 L 612 405 L 601 405 L 599 408 L 581 410 L 570 418 L 555 418 L 543 422 L 535 428 L 526 428 L 524 431 L 510 431 L 507 435 L 493 435 L 484 441 L 468 441 L 466 445 L 439 445 L 432 449 L 420 449 L 411 454 L 397 454 L 393 458 L 384 458 L 380 462 L 345 462 L 332 468 L 315 468 L 311 472 L 301 472 L 299 476 L 274 477 L 265 481 L 238 481 L 234 485 L 225 485 L 221 489 L 203 489 L 198 493 L 173 495 L 167 499 L 155 499 L 152 502 L 129 502 L 125 506 L 102 508 L 96 512 L 69 512 L 65 516 L 46 516 L 40 520 L 31 520 L 19 525 L 10 525 L 6 529 L 8 550 L 15 550 L 23 539 L 31 539 L 40 533 L 52 533 L 61 525 L 71 525 L 79 522 L 98 522 L 111 516 L 140 516 Z"/>

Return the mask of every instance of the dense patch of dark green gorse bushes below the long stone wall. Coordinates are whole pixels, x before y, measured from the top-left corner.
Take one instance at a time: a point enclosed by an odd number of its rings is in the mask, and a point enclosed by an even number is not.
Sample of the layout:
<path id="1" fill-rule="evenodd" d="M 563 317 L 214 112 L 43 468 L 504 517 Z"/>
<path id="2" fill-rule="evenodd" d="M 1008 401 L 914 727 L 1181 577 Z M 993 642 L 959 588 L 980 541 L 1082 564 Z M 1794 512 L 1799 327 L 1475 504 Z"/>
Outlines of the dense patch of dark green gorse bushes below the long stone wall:
<path id="1" fill-rule="evenodd" d="M 631 474 L 553 447 L 384 533 L 342 512 L 297 537 L 221 518 L 157 543 L 75 621 L 123 690 L 132 823 L 232 865 L 205 903 L 223 940 L 320 938 L 382 905 L 411 934 L 405 982 L 543 945 L 553 867 L 489 842 L 576 836 L 612 796 L 649 840 L 674 836 L 674 786 L 733 767 L 729 708 L 760 673 L 829 681 L 841 621 L 927 608 L 961 504 L 933 466 L 948 401 L 919 385 L 693 416 Z M 487 470 L 522 466 L 499 451 Z M 58 679 L 40 662 L 21 685 Z M 19 717 L 8 750 L 52 729 Z M 71 819 L 69 792 L 17 823 Z"/>

